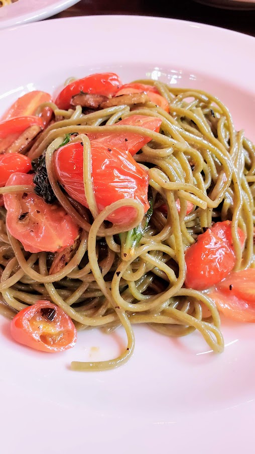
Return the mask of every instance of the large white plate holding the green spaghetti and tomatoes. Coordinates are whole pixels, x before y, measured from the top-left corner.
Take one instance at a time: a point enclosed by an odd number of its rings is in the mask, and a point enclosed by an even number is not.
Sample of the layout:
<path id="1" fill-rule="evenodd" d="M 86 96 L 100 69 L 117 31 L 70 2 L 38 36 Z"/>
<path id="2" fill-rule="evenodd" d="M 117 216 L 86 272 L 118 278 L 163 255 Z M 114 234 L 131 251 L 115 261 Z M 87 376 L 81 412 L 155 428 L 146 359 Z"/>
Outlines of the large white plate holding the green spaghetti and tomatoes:
<path id="1" fill-rule="evenodd" d="M 124 82 L 146 76 L 209 90 L 227 104 L 236 128 L 255 139 L 249 36 L 168 19 L 97 16 L 6 30 L 0 39 L 9 62 L 0 72 L 2 111 L 34 88 L 53 92 L 68 76 L 113 70 Z M 17 43 L 32 57 L 24 60 Z M 123 332 L 83 332 L 73 349 L 50 355 L 15 343 L 1 318 L 1 452 L 253 452 L 255 325 L 222 325 L 222 355 L 208 352 L 198 333 L 171 340 L 135 326 L 126 366 L 75 373 L 68 368 L 73 359 L 117 355 Z"/>

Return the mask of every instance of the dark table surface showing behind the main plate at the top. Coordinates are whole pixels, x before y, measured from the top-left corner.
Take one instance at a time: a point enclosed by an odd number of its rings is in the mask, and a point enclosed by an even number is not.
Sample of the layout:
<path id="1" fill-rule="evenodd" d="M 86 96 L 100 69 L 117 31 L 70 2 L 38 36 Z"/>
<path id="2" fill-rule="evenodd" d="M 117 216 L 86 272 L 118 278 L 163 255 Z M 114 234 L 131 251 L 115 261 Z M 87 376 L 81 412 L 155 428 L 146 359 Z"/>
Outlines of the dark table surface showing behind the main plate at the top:
<path id="1" fill-rule="evenodd" d="M 125 4 L 125 5 L 123 5 Z M 132 14 L 184 19 L 228 28 L 255 36 L 255 10 L 223 10 L 195 3 L 193 0 L 81 0 L 54 18 L 99 14 Z M 213 43 L 212 43 L 213 45 Z"/>

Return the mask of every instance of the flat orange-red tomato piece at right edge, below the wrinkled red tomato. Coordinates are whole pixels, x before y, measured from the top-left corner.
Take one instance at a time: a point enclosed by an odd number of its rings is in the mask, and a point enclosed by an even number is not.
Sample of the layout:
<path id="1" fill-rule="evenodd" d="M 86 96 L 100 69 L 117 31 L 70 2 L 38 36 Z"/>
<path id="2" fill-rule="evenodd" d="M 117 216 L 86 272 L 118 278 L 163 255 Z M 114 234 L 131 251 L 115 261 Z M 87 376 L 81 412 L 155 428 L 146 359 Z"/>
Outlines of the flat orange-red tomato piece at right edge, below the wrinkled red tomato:
<path id="1" fill-rule="evenodd" d="M 208 296 L 226 317 L 255 322 L 255 268 L 232 271 Z"/>

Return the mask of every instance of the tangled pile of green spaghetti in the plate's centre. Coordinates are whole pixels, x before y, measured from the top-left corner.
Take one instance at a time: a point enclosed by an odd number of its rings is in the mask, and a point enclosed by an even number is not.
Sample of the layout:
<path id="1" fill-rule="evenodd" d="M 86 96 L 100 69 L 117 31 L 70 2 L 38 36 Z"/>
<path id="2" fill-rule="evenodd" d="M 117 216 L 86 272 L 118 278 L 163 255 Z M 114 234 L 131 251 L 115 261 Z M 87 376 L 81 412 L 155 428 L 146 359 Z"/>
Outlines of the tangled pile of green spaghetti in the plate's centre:
<path id="1" fill-rule="evenodd" d="M 231 220 L 235 269 L 253 266 L 255 193 L 255 147 L 235 131 L 227 108 L 200 90 L 172 88 L 152 80 L 168 100 L 170 114 L 151 102 L 136 107 L 117 106 L 87 115 L 81 107 L 62 111 L 50 106 L 58 121 L 37 140 L 29 152 L 35 159 L 46 153 L 52 189 L 62 207 L 80 226 L 81 241 L 75 255 L 57 274 L 49 275 L 52 253 L 25 252 L 6 231 L 1 209 L 0 292 L 1 311 L 12 316 L 38 299 L 51 300 L 74 321 L 77 329 L 99 327 L 110 332 L 123 325 L 126 350 L 117 358 L 101 362 L 73 362 L 75 370 L 105 370 L 123 364 L 135 346 L 133 324 L 147 323 L 167 336 L 200 331 L 209 347 L 221 352 L 224 341 L 220 318 L 206 292 L 184 287 L 185 250 L 212 223 Z M 46 104 L 42 105 L 43 109 Z M 132 126 L 112 126 L 131 115 L 159 117 L 160 133 Z M 115 202 L 98 214 L 91 179 L 90 142 L 87 133 L 136 132 L 152 141 L 135 159 L 148 168 L 154 212 L 140 244 L 127 257 L 120 251 L 119 233 L 129 231 L 143 218 L 139 202 Z M 89 210 L 75 204 L 59 187 L 52 158 L 66 134 L 84 146 L 84 188 Z M 0 192 L 29 192 L 29 187 L 2 188 Z M 180 200 L 180 213 L 175 204 Z M 187 201 L 194 204 L 186 216 Z M 157 210 L 166 203 L 168 216 Z M 137 219 L 123 228 L 104 223 L 116 208 L 132 206 Z M 94 221 L 93 221 L 94 219 Z M 242 252 L 238 226 L 247 239 Z M 11 313 L 12 311 L 12 313 Z"/>

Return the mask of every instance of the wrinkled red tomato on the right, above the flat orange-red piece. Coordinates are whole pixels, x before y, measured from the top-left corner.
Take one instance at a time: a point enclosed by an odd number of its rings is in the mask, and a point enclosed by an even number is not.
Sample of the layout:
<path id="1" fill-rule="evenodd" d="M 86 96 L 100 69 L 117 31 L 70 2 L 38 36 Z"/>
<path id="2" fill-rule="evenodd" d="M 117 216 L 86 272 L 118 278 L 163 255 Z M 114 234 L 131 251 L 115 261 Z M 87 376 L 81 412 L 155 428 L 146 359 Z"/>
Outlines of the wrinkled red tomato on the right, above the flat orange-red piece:
<path id="1" fill-rule="evenodd" d="M 208 229 L 198 235 L 185 253 L 185 286 L 205 290 L 224 279 L 233 269 L 235 259 L 227 244 Z"/>

